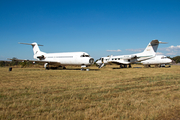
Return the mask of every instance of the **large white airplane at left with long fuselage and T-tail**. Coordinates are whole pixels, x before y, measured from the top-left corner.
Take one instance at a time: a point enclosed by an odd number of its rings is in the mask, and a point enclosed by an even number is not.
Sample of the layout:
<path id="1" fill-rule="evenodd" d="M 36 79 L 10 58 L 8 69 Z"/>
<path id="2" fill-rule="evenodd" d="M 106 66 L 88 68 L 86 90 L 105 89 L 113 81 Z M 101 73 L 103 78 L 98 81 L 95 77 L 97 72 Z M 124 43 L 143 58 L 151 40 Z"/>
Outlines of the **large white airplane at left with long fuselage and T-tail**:
<path id="1" fill-rule="evenodd" d="M 62 66 L 65 69 L 67 65 L 81 66 L 81 70 L 84 67 L 90 66 L 94 63 L 94 59 L 86 52 L 64 52 L 64 53 L 45 53 L 40 51 L 37 43 L 19 43 L 25 45 L 32 45 L 34 52 L 34 59 L 36 60 L 20 60 L 17 61 L 32 61 L 37 63 L 44 63 L 45 68 L 49 68 L 49 65 Z"/>

